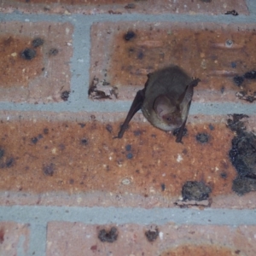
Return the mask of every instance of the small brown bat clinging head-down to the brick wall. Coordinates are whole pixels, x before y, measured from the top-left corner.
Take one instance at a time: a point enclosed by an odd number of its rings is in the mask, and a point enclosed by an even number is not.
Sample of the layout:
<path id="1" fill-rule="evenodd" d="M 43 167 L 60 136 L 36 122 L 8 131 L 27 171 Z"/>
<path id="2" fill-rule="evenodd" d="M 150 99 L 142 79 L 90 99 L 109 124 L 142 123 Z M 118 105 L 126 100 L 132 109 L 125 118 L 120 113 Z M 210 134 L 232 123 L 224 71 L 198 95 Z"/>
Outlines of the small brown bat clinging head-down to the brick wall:
<path id="1" fill-rule="evenodd" d="M 123 137 L 132 117 L 139 109 L 148 122 L 164 131 L 179 128 L 177 143 L 182 143 L 194 87 L 200 79 L 191 79 L 181 67 L 170 66 L 148 73 L 143 90 L 138 90 L 118 134 Z"/>

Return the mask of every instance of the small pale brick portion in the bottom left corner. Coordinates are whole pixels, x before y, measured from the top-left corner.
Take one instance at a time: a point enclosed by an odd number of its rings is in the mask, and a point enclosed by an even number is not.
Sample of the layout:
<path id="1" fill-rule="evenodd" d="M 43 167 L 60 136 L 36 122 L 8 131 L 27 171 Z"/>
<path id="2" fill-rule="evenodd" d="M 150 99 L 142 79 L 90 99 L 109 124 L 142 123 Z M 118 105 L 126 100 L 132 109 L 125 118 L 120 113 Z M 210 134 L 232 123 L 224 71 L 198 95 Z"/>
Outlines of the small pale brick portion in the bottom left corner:
<path id="1" fill-rule="evenodd" d="M 29 225 L 14 222 L 0 223 L 0 255 L 27 255 Z"/>

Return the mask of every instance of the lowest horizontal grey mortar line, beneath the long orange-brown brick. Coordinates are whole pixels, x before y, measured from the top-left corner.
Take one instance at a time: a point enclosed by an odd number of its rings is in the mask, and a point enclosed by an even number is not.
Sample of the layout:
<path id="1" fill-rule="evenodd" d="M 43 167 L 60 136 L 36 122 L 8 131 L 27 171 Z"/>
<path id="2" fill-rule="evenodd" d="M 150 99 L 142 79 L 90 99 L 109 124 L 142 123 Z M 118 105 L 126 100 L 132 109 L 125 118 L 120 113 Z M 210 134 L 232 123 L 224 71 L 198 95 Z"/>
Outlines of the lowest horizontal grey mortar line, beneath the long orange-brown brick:
<path id="1" fill-rule="evenodd" d="M 132 207 L 0 207 L 0 221 L 15 221 L 46 227 L 49 221 L 84 224 L 204 224 L 255 225 L 256 210 Z M 41 236 L 44 232 L 40 231 Z M 46 231 L 45 231 L 46 232 Z"/>

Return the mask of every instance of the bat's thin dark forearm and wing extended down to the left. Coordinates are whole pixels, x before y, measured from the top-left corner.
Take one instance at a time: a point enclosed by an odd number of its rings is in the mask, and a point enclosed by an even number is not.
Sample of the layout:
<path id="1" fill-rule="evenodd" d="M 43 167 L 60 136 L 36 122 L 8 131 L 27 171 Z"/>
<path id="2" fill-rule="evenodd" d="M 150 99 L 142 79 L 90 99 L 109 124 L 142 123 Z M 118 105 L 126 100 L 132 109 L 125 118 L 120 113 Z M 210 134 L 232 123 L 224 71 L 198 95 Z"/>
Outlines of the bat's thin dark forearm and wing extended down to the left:
<path id="1" fill-rule="evenodd" d="M 126 116 L 125 122 L 121 126 L 121 129 L 120 129 L 119 134 L 117 136 L 118 138 L 123 137 L 123 135 L 125 133 L 125 130 L 128 127 L 129 122 L 131 121 L 132 117 L 134 116 L 135 113 L 137 113 L 137 111 L 139 111 L 142 108 L 143 102 L 144 102 L 144 99 L 145 99 L 146 84 L 145 84 L 145 88 L 143 90 L 138 90 L 137 91 L 137 95 L 135 96 L 135 98 L 134 98 L 134 100 L 131 104 L 131 108 L 130 108 L 127 116 Z"/>

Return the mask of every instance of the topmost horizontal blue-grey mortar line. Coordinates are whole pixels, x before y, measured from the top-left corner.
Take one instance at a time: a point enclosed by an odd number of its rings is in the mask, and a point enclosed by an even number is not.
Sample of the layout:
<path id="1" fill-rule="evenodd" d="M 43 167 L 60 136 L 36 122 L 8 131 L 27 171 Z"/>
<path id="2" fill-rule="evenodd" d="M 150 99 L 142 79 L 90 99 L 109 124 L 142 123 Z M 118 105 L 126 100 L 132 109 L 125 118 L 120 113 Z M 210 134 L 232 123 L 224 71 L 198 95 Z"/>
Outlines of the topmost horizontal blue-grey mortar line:
<path id="1" fill-rule="evenodd" d="M 72 15 L 60 15 L 60 14 L 26 14 L 20 11 L 14 11 L 13 13 L 0 13 L 0 21 L 26 21 L 26 22 L 79 22 L 83 24 L 92 24 L 94 22 L 105 21 L 146 21 L 146 22 L 215 22 L 217 24 L 250 24 L 255 23 L 256 15 L 253 13 L 249 15 L 209 15 L 209 14 L 122 14 L 122 15 L 109 15 L 109 14 L 95 14 L 95 15 L 83 15 L 73 13 Z"/>

